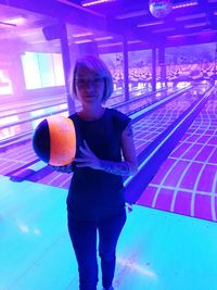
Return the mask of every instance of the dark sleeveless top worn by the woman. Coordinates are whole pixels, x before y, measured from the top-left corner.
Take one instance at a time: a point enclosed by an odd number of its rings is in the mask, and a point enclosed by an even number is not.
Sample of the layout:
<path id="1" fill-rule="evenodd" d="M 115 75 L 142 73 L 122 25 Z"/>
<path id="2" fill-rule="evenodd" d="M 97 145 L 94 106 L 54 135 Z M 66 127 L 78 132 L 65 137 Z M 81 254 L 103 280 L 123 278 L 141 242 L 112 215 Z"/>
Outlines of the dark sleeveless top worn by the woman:
<path id="1" fill-rule="evenodd" d="M 127 115 L 114 109 L 105 109 L 104 114 L 95 121 L 84 121 L 77 113 L 69 118 L 75 125 L 77 146 L 82 146 L 86 140 L 99 159 L 122 162 L 122 134 L 130 122 Z M 67 210 L 72 217 L 95 220 L 118 214 L 124 209 L 122 176 L 74 166 L 67 197 Z"/>

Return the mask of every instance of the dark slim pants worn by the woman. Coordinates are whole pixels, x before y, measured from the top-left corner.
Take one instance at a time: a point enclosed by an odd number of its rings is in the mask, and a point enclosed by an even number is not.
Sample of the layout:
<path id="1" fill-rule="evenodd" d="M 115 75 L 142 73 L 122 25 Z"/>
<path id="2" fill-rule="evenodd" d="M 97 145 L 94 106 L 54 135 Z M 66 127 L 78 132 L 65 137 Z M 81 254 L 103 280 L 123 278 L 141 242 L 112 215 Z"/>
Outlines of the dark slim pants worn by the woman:
<path id="1" fill-rule="evenodd" d="M 99 232 L 102 285 L 105 289 L 112 286 L 116 244 L 125 222 L 125 212 L 99 222 L 77 220 L 68 215 L 68 230 L 78 262 L 80 290 L 97 290 L 97 231 Z"/>

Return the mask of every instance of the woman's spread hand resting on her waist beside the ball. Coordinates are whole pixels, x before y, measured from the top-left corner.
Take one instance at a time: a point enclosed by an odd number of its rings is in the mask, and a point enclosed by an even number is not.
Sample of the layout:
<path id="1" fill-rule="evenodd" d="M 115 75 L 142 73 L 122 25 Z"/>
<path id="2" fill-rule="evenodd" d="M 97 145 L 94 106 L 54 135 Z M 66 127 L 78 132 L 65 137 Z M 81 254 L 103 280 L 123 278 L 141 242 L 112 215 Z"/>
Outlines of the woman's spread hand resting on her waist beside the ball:
<path id="1" fill-rule="evenodd" d="M 80 157 L 75 159 L 76 167 L 91 167 L 100 169 L 100 160 L 91 151 L 88 143 L 84 141 L 85 147 L 79 147 Z"/>

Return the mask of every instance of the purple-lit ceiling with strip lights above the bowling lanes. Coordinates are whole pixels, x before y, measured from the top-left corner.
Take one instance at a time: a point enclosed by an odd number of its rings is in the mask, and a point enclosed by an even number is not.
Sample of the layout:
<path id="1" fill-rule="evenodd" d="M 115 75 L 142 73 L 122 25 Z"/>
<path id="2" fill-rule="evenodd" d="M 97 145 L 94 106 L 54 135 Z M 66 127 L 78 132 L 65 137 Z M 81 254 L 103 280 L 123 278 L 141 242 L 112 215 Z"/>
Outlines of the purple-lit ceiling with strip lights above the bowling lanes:
<path id="1" fill-rule="evenodd" d="M 110 51 L 122 47 L 123 40 L 133 50 L 217 39 L 217 0 L 171 0 L 173 10 L 164 18 L 150 13 L 148 0 L 113 0 L 89 7 L 82 3 L 0 0 L 0 51 L 3 47 L 13 50 L 14 43 L 21 50 L 59 51 L 60 41 L 47 41 L 42 28 L 60 22 L 67 23 L 69 45 L 97 41 Z"/>

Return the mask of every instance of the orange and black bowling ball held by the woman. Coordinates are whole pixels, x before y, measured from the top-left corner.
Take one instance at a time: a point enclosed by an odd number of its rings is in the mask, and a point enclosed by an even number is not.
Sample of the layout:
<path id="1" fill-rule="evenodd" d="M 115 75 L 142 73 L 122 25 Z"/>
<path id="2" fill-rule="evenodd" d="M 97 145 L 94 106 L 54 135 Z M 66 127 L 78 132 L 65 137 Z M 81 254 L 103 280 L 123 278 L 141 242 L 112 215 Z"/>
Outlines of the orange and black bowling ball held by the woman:
<path id="1" fill-rule="evenodd" d="M 36 128 L 33 148 L 40 160 L 53 166 L 73 162 L 76 154 L 76 131 L 72 119 L 51 116 Z"/>

